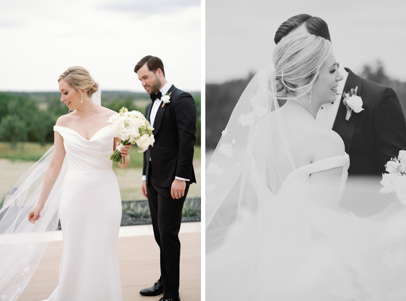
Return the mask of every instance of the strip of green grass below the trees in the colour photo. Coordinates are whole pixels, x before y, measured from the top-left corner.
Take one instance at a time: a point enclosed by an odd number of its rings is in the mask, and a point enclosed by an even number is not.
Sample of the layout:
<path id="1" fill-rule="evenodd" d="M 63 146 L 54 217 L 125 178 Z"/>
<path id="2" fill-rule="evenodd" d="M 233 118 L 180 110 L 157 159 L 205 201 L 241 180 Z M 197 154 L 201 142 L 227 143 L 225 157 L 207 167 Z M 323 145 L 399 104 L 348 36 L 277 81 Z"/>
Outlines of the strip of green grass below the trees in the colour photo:
<path id="1" fill-rule="evenodd" d="M 15 148 L 11 148 L 11 143 L 0 142 L 0 158 L 24 161 L 38 161 L 52 144 L 41 145 L 37 142 L 20 142 Z M 193 159 L 200 159 L 201 148 L 200 146 L 194 147 Z M 138 147 L 132 146 L 130 154 L 129 168 L 143 167 L 143 153 L 138 153 Z M 113 168 L 119 168 L 117 164 L 113 164 Z"/>

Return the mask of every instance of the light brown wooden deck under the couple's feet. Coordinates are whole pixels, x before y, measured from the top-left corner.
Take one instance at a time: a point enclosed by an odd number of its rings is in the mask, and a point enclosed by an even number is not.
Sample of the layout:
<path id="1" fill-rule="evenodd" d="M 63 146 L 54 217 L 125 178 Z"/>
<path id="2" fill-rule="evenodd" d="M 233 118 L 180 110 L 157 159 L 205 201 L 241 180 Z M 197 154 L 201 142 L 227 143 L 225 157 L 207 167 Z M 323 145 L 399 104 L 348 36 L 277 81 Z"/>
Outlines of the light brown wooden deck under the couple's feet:
<path id="1" fill-rule="evenodd" d="M 188 224 L 188 223 L 182 223 Z M 181 241 L 180 288 L 182 301 L 201 300 L 200 232 L 179 233 Z M 19 301 L 47 299 L 58 286 L 63 241 L 52 241 Z M 119 237 L 118 245 L 123 301 L 159 300 L 145 297 L 140 289 L 154 284 L 160 275 L 159 247 L 153 235 Z"/>

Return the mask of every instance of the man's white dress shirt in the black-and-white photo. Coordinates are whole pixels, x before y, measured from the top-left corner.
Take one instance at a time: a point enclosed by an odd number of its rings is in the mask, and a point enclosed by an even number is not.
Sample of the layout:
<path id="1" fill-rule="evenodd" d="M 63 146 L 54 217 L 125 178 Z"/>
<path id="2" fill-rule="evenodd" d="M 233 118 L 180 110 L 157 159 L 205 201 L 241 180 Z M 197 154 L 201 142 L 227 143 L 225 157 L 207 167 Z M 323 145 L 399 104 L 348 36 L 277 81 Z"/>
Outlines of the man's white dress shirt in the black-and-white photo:
<path id="1" fill-rule="evenodd" d="M 348 77 L 348 72 L 344 69 L 343 65 L 340 65 L 338 71 L 343 75 L 343 80 L 338 82 L 337 86 L 337 98 L 334 102 L 325 103 L 320 107 L 319 112 L 317 112 L 316 120 L 324 127 L 328 129 L 333 129 L 335 116 L 337 116 L 338 107 L 340 105 L 341 96 L 343 95 L 344 86 Z M 348 91 L 347 91 L 348 92 Z"/>

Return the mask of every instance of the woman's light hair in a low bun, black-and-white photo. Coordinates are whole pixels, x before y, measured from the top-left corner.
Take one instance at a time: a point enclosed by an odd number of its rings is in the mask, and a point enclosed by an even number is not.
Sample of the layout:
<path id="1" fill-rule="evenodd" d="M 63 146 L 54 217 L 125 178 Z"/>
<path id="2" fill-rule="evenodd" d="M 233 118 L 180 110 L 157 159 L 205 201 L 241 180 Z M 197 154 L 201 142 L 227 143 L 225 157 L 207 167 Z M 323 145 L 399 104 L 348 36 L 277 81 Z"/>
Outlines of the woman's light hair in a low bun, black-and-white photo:
<path id="1" fill-rule="evenodd" d="M 279 99 L 296 99 L 310 92 L 331 52 L 331 42 L 313 34 L 292 34 L 276 45 L 275 89 Z"/>

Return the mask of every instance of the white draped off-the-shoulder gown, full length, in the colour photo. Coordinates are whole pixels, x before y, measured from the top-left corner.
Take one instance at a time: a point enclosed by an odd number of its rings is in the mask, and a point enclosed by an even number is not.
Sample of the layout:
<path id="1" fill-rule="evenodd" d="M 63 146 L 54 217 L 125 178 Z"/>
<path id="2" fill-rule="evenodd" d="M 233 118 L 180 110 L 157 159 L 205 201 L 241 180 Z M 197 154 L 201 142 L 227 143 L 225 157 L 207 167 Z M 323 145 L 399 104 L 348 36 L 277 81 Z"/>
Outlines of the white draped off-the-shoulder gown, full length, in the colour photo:
<path id="1" fill-rule="evenodd" d="M 111 126 L 90 140 L 67 127 L 54 126 L 63 137 L 68 171 L 59 206 L 63 256 L 59 285 L 48 301 L 121 301 L 117 242 L 121 198 L 109 159 Z"/>

